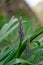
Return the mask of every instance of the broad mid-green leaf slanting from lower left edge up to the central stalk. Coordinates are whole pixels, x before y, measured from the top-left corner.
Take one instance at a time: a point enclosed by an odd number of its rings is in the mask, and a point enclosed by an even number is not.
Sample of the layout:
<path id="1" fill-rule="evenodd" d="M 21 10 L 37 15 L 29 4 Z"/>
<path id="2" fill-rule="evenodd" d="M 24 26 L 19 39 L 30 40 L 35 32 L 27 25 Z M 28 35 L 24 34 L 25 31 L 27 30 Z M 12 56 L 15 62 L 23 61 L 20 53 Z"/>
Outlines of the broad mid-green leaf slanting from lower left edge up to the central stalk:
<path id="1" fill-rule="evenodd" d="M 15 43 L 14 45 L 12 45 L 11 47 L 9 47 L 9 49 L 7 49 L 6 51 L 3 52 L 3 54 L 0 55 L 0 62 L 2 60 L 4 60 L 10 53 L 12 53 L 13 51 L 15 51 L 15 49 L 17 50 L 19 46 L 19 43 Z"/>

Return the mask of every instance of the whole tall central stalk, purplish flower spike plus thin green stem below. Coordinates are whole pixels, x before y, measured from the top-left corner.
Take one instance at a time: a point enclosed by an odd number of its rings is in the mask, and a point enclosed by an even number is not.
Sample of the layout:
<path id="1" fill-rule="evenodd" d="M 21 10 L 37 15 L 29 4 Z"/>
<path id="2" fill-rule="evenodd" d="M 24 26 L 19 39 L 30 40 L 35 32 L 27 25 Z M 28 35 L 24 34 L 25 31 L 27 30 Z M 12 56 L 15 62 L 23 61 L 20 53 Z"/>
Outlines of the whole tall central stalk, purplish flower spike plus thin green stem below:
<path id="1" fill-rule="evenodd" d="M 20 39 L 20 44 L 17 52 L 17 57 L 19 57 L 19 52 L 21 48 L 22 41 L 24 40 L 24 32 L 23 32 L 23 25 L 22 25 L 22 17 L 19 19 L 19 39 Z"/>

